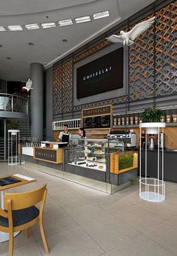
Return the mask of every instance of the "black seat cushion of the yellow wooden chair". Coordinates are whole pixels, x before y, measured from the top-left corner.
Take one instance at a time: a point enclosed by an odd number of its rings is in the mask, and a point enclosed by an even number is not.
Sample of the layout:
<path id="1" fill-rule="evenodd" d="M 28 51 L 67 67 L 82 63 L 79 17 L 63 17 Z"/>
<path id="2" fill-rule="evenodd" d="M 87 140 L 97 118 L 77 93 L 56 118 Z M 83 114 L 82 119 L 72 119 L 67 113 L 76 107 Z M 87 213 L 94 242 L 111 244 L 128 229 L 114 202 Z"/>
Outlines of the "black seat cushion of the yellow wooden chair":
<path id="1" fill-rule="evenodd" d="M 17 227 L 32 221 L 39 215 L 39 210 L 35 206 L 28 207 L 26 209 L 13 211 L 13 227 Z M 0 225 L 8 227 L 8 219 L 0 216 Z"/>

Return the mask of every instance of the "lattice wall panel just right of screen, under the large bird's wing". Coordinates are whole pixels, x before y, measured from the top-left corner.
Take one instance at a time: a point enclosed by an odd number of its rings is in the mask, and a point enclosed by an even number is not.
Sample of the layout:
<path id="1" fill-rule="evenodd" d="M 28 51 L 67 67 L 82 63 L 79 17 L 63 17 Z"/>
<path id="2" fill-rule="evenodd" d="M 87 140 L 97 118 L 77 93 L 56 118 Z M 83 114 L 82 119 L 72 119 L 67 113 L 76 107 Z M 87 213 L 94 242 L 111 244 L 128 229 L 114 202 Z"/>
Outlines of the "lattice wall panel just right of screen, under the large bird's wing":
<path id="1" fill-rule="evenodd" d="M 130 101 L 154 95 L 154 26 L 134 42 L 129 48 Z"/>

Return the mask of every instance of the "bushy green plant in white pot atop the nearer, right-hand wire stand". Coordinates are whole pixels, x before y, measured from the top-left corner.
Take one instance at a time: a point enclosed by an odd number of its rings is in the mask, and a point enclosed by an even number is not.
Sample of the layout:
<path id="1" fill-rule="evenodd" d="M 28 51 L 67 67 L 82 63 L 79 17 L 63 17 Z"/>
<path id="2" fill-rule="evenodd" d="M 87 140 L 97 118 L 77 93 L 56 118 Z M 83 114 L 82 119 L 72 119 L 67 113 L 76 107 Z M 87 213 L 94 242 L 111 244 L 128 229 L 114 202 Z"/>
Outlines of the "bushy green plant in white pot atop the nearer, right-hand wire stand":
<path id="1" fill-rule="evenodd" d="M 158 127 L 165 127 L 166 123 L 161 123 L 162 117 L 166 117 L 166 112 L 160 108 L 145 108 L 140 114 L 140 127 L 146 128 L 148 134 L 157 134 Z"/>

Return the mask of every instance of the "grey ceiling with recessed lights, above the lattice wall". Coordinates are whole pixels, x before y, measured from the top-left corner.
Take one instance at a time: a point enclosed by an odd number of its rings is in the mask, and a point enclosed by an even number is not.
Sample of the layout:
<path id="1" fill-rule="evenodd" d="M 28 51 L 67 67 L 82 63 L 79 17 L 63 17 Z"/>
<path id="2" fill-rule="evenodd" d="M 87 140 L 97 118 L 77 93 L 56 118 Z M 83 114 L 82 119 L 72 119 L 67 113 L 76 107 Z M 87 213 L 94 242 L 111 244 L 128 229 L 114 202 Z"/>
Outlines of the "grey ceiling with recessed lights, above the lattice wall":
<path id="1" fill-rule="evenodd" d="M 0 79 L 27 81 L 31 62 L 46 62 L 47 68 L 152 2 L 154 0 L 1 0 L 0 26 L 74 20 L 107 10 L 110 17 L 52 29 L 0 32 Z M 28 45 L 30 42 L 34 45 Z"/>

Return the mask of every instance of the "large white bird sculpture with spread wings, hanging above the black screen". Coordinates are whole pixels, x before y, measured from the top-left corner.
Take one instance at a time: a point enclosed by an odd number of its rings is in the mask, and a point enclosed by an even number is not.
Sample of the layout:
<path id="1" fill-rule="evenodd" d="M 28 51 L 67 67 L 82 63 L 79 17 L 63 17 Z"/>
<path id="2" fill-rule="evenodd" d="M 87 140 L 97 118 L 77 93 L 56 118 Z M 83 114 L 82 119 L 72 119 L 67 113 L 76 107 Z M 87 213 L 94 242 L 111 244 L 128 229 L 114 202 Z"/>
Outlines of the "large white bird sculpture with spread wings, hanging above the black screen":
<path id="1" fill-rule="evenodd" d="M 155 17 L 151 19 L 144 20 L 141 23 L 136 24 L 129 32 L 124 32 L 121 30 L 120 35 L 111 35 L 109 38 L 106 38 L 113 43 L 121 43 L 123 45 L 131 45 L 134 42 L 134 39 L 141 35 L 145 30 L 150 28 L 150 26 L 154 23 Z"/>

